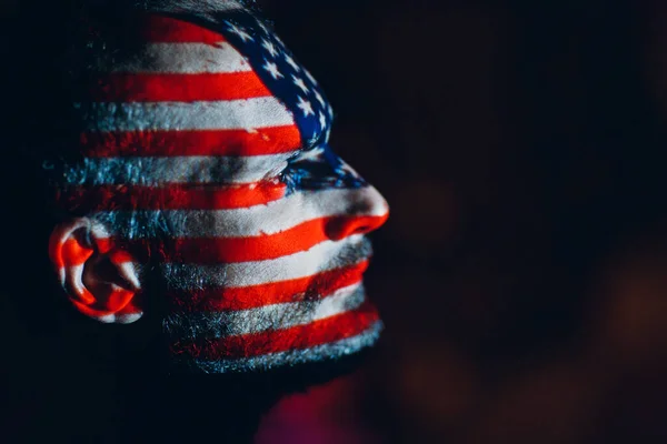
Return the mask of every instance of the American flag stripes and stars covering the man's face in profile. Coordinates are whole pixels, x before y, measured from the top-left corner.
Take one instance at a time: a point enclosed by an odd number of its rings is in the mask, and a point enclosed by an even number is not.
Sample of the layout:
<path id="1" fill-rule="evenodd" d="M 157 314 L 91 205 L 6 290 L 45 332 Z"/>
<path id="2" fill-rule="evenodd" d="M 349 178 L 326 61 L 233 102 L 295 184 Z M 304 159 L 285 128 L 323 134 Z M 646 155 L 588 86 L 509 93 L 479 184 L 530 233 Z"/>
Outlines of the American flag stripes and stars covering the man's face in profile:
<path id="1" fill-rule="evenodd" d="M 261 19 L 217 4 L 143 12 L 132 51 L 100 54 L 59 203 L 86 215 L 100 252 L 126 252 L 113 261 L 143 270 L 138 281 L 158 273 L 163 331 L 188 367 L 357 352 L 381 330 L 361 275 L 387 203 L 328 145 L 334 112 L 310 73 Z M 56 260 L 68 291 L 88 259 L 70 256 Z M 77 304 L 131 322 L 150 310 L 151 290 L 133 286 L 122 316 Z"/>

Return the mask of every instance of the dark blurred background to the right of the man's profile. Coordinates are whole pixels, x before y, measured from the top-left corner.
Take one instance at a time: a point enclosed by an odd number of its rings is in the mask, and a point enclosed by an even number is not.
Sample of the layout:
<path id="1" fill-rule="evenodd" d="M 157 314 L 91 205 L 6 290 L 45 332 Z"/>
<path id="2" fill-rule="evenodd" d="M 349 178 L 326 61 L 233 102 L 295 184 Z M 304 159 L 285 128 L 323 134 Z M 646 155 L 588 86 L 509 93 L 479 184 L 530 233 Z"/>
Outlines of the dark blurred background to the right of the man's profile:
<path id="1" fill-rule="evenodd" d="M 258 441 L 667 442 L 664 2 L 258 3 L 392 211 L 378 355 Z"/>

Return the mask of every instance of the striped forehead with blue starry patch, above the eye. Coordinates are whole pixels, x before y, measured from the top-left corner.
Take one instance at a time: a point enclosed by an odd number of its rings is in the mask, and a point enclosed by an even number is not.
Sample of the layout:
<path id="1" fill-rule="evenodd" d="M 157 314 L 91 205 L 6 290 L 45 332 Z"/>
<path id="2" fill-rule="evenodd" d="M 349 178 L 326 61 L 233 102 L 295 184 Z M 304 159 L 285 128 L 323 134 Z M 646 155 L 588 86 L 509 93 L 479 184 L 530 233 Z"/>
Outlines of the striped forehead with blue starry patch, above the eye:
<path id="1" fill-rule="evenodd" d="M 187 144 L 175 148 L 183 155 L 216 154 L 211 144 L 228 147 L 218 154 L 259 154 L 327 141 L 331 105 L 261 19 L 247 11 L 151 13 L 138 24 L 139 49 L 101 59 L 92 101 L 79 104 L 86 132 L 122 133 L 117 144 L 143 155 L 166 154 L 147 132 L 167 135 L 162 145 Z"/>

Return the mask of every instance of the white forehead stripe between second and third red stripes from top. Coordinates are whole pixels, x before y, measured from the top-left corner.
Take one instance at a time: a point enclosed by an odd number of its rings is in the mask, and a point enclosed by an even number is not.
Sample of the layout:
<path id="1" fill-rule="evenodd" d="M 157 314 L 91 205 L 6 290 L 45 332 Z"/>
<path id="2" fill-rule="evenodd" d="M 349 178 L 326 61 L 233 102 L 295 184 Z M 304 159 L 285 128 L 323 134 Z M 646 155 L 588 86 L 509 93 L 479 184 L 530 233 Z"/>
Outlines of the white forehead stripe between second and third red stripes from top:
<path id="1" fill-rule="evenodd" d="M 272 97 L 210 102 L 77 103 L 89 131 L 247 130 L 293 124 Z"/>

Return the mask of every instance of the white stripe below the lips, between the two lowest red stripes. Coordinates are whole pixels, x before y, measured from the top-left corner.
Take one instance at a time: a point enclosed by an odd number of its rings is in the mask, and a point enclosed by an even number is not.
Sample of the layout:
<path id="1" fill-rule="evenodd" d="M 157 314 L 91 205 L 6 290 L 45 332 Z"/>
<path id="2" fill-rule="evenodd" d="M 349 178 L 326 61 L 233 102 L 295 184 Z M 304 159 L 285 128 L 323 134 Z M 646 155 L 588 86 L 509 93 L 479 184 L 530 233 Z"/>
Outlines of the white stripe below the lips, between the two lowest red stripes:
<path id="1" fill-rule="evenodd" d="M 166 332 L 190 340 L 219 339 L 290 329 L 336 316 L 361 306 L 366 295 L 361 284 L 340 289 L 318 301 L 273 304 L 250 310 L 172 313 L 165 319 Z"/>

